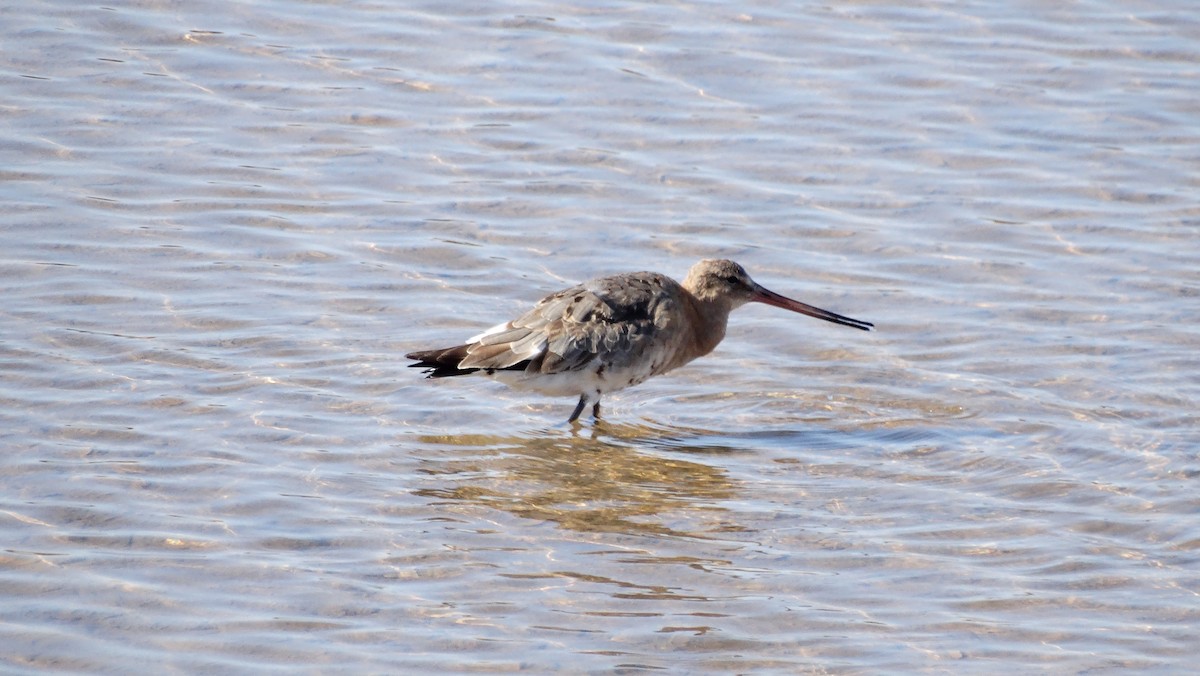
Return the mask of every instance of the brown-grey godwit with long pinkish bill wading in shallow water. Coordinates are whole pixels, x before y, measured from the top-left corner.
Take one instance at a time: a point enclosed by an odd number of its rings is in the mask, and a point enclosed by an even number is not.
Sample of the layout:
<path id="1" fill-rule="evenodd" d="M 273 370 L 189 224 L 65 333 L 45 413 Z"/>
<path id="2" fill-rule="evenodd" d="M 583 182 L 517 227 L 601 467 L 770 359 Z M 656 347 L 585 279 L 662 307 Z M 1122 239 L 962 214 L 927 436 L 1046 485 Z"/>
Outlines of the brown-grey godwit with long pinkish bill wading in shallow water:
<path id="1" fill-rule="evenodd" d="M 679 282 L 658 273 L 600 277 L 552 293 L 524 315 L 463 345 L 406 354 L 430 378 L 484 375 L 552 396 L 578 396 L 568 423 L 600 396 L 703 357 L 725 337 L 730 312 L 766 303 L 864 331 L 851 319 L 755 283 L 733 261 L 701 261 Z"/>

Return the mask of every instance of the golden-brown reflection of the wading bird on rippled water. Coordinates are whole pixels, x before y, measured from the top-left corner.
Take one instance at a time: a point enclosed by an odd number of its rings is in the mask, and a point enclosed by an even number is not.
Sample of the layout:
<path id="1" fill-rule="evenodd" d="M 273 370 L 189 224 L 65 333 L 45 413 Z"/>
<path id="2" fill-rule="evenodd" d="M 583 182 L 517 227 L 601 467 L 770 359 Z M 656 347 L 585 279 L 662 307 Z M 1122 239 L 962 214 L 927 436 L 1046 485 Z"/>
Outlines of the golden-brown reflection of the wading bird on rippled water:
<path id="1" fill-rule="evenodd" d="M 479 453 L 464 460 L 427 461 L 422 471 L 439 477 L 443 485 L 415 492 L 554 521 L 581 532 L 706 537 L 664 521 L 680 510 L 725 514 L 714 503 L 737 495 L 736 483 L 720 468 L 638 449 L 733 450 L 674 447 L 673 439 L 688 432 L 598 423 L 582 435 L 548 430 L 529 437 L 425 436 L 421 443 Z M 728 524 L 716 528 L 740 530 Z"/>

